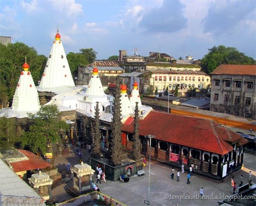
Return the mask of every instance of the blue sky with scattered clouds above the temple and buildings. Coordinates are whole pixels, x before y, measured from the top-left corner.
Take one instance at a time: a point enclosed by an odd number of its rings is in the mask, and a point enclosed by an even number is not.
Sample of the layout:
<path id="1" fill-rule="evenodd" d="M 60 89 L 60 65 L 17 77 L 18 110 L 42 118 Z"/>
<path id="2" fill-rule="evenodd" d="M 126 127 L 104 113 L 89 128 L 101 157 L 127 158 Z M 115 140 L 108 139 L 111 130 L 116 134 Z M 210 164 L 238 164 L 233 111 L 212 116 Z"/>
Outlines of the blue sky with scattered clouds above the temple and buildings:
<path id="1" fill-rule="evenodd" d="M 49 56 L 59 29 L 65 53 L 97 59 L 160 52 L 202 59 L 224 45 L 256 59 L 256 0 L 0 0 L 0 36 Z"/>

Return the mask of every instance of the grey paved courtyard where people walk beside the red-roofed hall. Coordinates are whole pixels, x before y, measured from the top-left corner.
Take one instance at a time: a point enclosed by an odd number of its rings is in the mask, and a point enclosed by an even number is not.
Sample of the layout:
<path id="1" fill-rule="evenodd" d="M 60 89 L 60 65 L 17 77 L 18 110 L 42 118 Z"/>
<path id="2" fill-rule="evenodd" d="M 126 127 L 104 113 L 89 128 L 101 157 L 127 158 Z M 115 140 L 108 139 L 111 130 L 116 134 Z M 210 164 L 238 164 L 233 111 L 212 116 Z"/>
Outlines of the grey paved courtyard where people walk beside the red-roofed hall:
<path id="1" fill-rule="evenodd" d="M 69 155 L 59 156 L 55 160 L 55 166 L 58 169 L 65 170 L 66 165 L 70 162 L 71 165 L 78 164 L 79 157 L 75 155 L 75 149 L 72 149 Z M 82 150 L 82 157 L 84 162 L 88 159 L 89 155 L 87 152 Z M 244 154 L 244 169 L 234 173 L 235 181 L 240 184 L 240 175 L 244 176 L 244 183 L 248 181 L 248 170 L 252 171 L 252 182 L 256 182 L 256 169 L 255 169 L 255 155 L 250 153 Z M 248 163 L 247 163 L 248 162 Z M 144 168 L 147 172 L 145 175 L 138 177 L 136 175 L 130 178 L 128 183 L 122 183 L 120 181 L 107 181 L 106 183 L 99 184 L 100 192 L 107 194 L 108 196 L 117 199 L 120 202 L 125 203 L 128 206 L 142 206 L 145 205 L 144 201 L 148 200 L 149 191 L 149 165 L 148 162 Z M 175 168 L 175 174 L 177 173 Z M 231 177 L 227 177 L 222 182 L 211 181 L 205 177 L 193 175 L 190 178 L 191 184 L 187 185 L 187 173 L 181 173 L 180 181 L 177 182 L 175 179 L 172 180 L 169 177 L 171 166 L 161 164 L 156 161 L 151 161 L 151 173 L 150 173 L 150 205 L 152 206 L 174 206 L 176 204 L 182 206 L 218 206 L 218 199 L 195 199 L 198 195 L 199 190 L 203 187 L 204 194 L 212 195 L 215 198 L 219 198 L 220 195 L 231 195 Z M 106 178 L 107 179 L 107 178 Z M 93 181 L 96 181 L 96 175 L 93 177 Z M 58 202 L 71 199 L 69 194 L 66 194 L 64 187 L 69 186 L 70 182 L 62 184 L 53 189 L 52 194 Z M 170 199 L 182 196 L 180 199 Z M 184 196 L 188 196 L 184 199 Z M 192 199 L 194 198 L 194 199 Z M 222 199 L 222 198 L 221 198 Z"/>

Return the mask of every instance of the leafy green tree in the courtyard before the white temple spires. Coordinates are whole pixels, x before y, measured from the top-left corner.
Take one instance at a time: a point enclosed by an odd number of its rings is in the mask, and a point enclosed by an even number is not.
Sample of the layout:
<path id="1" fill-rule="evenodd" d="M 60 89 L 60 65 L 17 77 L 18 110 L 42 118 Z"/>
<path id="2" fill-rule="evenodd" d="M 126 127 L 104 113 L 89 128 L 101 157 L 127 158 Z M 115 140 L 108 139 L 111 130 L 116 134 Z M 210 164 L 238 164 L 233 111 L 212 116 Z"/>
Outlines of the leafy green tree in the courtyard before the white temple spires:
<path id="1" fill-rule="evenodd" d="M 36 114 L 29 114 L 31 123 L 28 131 L 22 135 L 22 146 L 30 151 L 42 154 L 47 152 L 47 145 L 60 140 L 61 131 L 67 131 L 69 125 L 60 120 L 60 111 L 56 105 L 46 105 Z"/>

